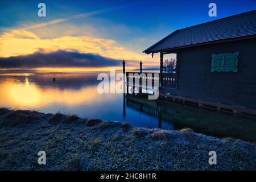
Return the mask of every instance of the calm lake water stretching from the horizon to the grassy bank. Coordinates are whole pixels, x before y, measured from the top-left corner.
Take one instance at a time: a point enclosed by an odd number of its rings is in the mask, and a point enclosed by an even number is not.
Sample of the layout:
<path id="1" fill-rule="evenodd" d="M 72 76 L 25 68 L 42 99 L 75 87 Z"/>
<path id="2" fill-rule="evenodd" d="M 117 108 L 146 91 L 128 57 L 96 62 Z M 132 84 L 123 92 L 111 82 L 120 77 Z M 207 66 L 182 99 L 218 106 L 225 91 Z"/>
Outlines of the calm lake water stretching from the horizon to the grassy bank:
<path id="1" fill-rule="evenodd" d="M 56 81 L 52 81 L 53 75 Z M 100 94 L 98 73 L 1 73 L 0 106 L 256 141 L 256 119 L 172 101 Z"/>

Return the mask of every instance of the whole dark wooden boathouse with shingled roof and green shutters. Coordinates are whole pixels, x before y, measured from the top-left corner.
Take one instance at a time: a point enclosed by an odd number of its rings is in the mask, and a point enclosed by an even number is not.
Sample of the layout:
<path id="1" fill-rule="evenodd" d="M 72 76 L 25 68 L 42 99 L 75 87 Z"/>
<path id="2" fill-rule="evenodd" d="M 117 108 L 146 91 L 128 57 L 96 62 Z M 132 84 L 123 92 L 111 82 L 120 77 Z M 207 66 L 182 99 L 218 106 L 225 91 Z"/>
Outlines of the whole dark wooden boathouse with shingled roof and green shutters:
<path id="1" fill-rule="evenodd" d="M 160 53 L 160 97 L 256 115 L 256 10 L 176 30 L 143 52 Z M 163 69 L 170 53 L 176 72 Z"/>

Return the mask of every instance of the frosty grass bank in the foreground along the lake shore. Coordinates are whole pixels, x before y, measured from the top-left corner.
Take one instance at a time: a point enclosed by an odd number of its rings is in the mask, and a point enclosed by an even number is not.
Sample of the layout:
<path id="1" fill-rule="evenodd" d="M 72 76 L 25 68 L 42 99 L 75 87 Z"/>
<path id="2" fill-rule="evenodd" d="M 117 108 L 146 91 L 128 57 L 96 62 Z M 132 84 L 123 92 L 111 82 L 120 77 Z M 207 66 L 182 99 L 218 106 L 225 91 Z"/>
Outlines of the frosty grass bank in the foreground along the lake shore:
<path id="1" fill-rule="evenodd" d="M 1 170 L 255 170 L 254 143 L 0 109 Z M 46 151 L 46 165 L 38 152 Z M 217 165 L 209 165 L 209 151 Z"/>

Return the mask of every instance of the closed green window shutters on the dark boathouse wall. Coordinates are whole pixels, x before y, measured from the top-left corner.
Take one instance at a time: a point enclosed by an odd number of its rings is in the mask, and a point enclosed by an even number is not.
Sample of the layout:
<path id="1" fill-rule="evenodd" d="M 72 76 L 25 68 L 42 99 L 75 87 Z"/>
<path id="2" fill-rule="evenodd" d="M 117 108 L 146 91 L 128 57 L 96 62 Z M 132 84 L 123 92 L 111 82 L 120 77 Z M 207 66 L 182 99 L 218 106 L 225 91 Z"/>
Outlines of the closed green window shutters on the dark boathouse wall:
<path id="1" fill-rule="evenodd" d="M 212 54 L 210 72 L 237 72 L 239 52 Z"/>

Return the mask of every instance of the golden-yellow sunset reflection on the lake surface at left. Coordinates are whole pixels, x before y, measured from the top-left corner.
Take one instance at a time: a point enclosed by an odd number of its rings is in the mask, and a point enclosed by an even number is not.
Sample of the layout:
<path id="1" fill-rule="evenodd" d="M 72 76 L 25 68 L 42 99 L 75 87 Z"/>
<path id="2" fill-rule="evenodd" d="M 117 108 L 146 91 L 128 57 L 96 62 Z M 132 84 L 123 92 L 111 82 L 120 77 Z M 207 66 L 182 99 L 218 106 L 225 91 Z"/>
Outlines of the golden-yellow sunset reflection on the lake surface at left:
<path id="1" fill-rule="evenodd" d="M 65 104 L 68 106 L 95 103 L 103 97 L 111 97 L 109 94 L 98 94 L 97 86 L 87 86 L 79 90 L 40 88 L 36 84 L 30 84 L 28 77 L 24 82 L 14 82 L 8 79 L 2 82 L 0 90 L 1 106 L 11 107 L 24 105 L 47 105 L 50 103 Z"/>

